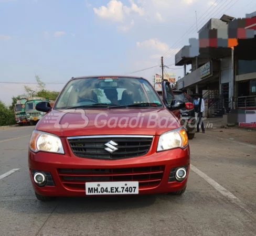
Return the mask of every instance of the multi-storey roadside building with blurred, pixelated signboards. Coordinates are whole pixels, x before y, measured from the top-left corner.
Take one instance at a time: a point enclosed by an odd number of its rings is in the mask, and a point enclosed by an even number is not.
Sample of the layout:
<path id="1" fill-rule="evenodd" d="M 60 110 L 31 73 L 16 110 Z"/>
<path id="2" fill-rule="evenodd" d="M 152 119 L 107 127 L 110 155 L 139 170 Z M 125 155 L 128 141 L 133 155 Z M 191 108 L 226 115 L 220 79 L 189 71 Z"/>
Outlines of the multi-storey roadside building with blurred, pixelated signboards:
<path id="1" fill-rule="evenodd" d="M 245 19 L 210 19 L 199 30 L 199 39 L 190 39 L 175 55 L 175 65 L 184 66 L 177 88 L 202 93 L 208 117 L 256 108 L 255 23 L 256 12 Z M 186 65 L 191 65 L 190 73 Z"/>

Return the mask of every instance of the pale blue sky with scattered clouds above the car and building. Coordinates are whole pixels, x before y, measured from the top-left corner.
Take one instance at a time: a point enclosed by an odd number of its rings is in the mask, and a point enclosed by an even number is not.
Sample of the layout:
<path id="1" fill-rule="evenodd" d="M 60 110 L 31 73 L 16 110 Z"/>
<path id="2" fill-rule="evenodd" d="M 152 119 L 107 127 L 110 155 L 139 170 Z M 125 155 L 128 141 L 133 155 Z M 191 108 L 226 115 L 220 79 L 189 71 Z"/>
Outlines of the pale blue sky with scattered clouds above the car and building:
<path id="1" fill-rule="evenodd" d="M 196 15 L 200 29 L 210 18 L 254 11 L 255 0 L 0 0 L 0 100 L 10 104 L 35 75 L 57 91 L 79 76 L 151 82 L 161 56 L 167 73 L 183 77 L 175 54 L 198 38 Z"/>

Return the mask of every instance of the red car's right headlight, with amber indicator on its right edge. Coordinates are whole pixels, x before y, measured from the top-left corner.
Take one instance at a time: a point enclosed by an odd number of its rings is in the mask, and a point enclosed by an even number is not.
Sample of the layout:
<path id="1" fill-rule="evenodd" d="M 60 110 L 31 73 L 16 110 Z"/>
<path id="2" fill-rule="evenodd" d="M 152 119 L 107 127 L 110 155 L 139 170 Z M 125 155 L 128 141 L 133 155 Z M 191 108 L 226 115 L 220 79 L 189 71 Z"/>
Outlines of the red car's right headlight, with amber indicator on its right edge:
<path id="1" fill-rule="evenodd" d="M 168 131 L 159 137 L 157 152 L 173 148 L 185 148 L 188 145 L 188 136 L 184 128 Z"/>

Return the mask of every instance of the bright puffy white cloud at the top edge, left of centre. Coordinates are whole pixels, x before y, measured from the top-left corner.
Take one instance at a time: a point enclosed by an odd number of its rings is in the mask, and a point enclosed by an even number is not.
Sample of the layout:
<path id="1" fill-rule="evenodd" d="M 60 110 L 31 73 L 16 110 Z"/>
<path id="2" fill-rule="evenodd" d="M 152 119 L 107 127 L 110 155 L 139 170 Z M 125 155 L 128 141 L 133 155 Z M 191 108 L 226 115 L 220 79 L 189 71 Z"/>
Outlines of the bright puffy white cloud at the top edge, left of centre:
<path id="1" fill-rule="evenodd" d="M 122 22 L 124 19 L 123 3 L 117 0 L 111 0 L 107 7 L 101 6 L 93 8 L 94 13 L 102 19 L 113 20 L 114 22 Z"/>

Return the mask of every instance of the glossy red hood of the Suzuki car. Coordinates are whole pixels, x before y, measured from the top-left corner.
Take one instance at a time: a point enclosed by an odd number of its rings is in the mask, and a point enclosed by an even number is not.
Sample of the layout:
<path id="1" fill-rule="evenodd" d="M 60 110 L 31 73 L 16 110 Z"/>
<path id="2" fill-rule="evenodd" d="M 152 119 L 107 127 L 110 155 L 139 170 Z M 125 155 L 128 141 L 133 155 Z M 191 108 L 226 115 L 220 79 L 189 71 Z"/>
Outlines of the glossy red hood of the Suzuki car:
<path id="1" fill-rule="evenodd" d="M 81 135 L 161 135 L 180 127 L 166 108 L 52 110 L 35 129 L 60 137 Z"/>

